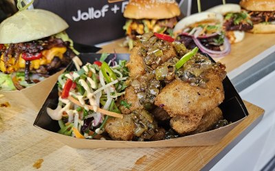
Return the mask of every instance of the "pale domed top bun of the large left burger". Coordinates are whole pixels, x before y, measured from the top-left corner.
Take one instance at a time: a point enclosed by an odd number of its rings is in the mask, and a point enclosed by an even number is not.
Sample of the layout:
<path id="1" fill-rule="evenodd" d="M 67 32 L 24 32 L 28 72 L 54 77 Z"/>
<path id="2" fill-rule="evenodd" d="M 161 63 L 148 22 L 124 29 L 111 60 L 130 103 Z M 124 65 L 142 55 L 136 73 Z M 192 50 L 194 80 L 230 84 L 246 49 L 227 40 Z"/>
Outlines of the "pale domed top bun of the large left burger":
<path id="1" fill-rule="evenodd" d="M 0 24 L 0 43 L 10 44 L 38 40 L 67 29 L 58 15 L 46 10 L 23 10 Z"/>

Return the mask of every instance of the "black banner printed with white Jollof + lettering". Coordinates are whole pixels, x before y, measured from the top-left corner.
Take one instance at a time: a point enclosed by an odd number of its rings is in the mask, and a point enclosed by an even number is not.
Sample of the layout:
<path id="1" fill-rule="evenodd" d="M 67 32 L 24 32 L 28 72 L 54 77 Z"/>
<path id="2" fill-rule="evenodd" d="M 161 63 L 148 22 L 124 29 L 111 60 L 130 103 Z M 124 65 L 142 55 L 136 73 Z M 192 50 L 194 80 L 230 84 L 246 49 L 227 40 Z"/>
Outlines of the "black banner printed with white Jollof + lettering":
<path id="1" fill-rule="evenodd" d="M 50 10 L 67 21 L 70 38 L 82 44 L 98 44 L 124 36 L 123 11 L 128 1 L 35 0 L 34 8 Z"/>

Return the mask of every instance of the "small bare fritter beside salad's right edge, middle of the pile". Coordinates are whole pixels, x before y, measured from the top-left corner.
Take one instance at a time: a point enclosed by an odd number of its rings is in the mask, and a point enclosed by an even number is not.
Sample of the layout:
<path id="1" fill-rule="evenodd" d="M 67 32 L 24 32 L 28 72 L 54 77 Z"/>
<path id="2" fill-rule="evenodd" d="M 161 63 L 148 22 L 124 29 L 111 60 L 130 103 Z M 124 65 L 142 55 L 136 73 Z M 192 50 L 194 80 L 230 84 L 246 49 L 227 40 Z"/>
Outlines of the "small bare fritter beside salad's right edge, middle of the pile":
<path id="1" fill-rule="evenodd" d="M 133 86 L 129 86 L 125 89 L 125 94 L 120 98 L 120 101 L 126 101 L 129 105 L 129 109 L 124 107 L 123 105 L 119 105 L 119 109 L 122 114 L 130 114 L 132 111 L 137 109 L 143 109 L 143 105 L 140 104 L 139 99 L 137 98 L 137 94 L 135 93 L 135 89 Z"/>

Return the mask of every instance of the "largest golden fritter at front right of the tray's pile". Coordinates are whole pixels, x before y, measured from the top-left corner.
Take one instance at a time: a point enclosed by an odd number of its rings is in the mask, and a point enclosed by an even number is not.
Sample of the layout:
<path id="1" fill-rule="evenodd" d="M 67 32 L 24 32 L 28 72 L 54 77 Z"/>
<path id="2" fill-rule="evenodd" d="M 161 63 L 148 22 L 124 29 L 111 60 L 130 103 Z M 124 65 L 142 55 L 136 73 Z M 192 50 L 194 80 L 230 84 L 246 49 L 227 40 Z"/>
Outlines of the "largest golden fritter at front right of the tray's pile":
<path id="1" fill-rule="evenodd" d="M 185 81 L 175 79 L 156 96 L 155 105 L 163 106 L 170 116 L 203 116 L 224 99 L 221 78 L 212 71 L 206 73 L 206 78 L 206 88 L 190 86 Z"/>

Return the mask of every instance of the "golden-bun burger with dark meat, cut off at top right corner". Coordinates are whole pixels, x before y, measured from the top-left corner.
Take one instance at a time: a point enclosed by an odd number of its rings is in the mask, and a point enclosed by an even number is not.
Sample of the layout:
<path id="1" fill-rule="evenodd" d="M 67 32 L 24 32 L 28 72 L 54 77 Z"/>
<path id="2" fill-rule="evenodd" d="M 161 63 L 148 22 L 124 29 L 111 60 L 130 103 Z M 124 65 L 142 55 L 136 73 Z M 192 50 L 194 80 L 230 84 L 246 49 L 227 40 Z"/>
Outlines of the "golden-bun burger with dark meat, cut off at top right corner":
<path id="1" fill-rule="evenodd" d="M 275 1 L 274 0 L 241 0 L 241 8 L 250 15 L 254 28 L 253 34 L 275 33 Z"/>

